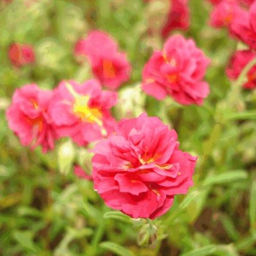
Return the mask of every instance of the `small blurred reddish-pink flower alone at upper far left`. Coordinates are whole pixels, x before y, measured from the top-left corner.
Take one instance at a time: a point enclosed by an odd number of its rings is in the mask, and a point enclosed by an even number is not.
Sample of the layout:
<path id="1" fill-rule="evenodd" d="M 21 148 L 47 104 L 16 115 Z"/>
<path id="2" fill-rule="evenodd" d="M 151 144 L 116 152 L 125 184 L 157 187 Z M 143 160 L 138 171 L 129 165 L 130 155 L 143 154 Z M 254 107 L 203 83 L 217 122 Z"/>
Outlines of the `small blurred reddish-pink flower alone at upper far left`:
<path id="1" fill-rule="evenodd" d="M 28 44 L 13 43 L 9 48 L 9 59 L 16 67 L 35 62 L 35 53 L 32 46 Z"/>

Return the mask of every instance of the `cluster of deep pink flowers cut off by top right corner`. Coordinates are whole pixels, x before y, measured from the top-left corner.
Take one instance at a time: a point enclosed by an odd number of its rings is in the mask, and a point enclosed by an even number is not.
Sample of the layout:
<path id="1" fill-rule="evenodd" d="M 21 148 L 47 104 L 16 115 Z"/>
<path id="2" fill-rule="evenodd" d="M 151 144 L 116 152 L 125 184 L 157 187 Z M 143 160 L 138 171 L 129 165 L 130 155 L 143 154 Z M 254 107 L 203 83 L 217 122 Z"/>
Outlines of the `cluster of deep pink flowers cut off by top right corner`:
<path id="1" fill-rule="evenodd" d="M 211 24 L 214 27 L 227 27 L 230 35 L 241 40 L 249 47 L 237 51 L 230 59 L 227 74 L 234 80 L 240 75 L 243 68 L 255 59 L 256 49 L 256 1 L 255 0 L 222 0 L 213 2 L 214 10 Z M 243 84 L 245 89 L 256 87 L 256 65 L 247 73 L 247 81 Z"/>

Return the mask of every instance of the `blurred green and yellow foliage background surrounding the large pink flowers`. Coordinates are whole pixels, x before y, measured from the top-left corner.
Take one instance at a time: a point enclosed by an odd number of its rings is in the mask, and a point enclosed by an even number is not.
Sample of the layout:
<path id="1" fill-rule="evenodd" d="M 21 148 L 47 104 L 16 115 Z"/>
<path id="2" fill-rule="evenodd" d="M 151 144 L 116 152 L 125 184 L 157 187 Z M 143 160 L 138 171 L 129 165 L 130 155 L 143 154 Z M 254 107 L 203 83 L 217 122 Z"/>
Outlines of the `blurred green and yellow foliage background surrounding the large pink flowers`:
<path id="1" fill-rule="evenodd" d="M 140 89 L 144 64 L 163 46 L 170 1 L 0 1 L 0 255 L 256 255 L 256 94 L 233 86 L 225 73 L 230 56 L 245 46 L 209 26 L 209 1 L 188 6 L 190 26 L 170 34 L 195 39 L 212 60 L 203 106 L 159 102 Z M 150 230 L 145 220 L 107 208 L 92 182 L 73 174 L 75 164 L 90 173 L 87 148 L 63 139 L 47 154 L 31 151 L 7 126 L 16 88 L 36 82 L 53 89 L 63 79 L 91 76 L 73 52 L 95 29 L 108 32 L 133 67 L 115 117 L 146 110 L 174 127 L 182 150 L 199 156 L 195 186 L 176 196 Z M 22 58 L 20 45 L 27 47 Z"/>

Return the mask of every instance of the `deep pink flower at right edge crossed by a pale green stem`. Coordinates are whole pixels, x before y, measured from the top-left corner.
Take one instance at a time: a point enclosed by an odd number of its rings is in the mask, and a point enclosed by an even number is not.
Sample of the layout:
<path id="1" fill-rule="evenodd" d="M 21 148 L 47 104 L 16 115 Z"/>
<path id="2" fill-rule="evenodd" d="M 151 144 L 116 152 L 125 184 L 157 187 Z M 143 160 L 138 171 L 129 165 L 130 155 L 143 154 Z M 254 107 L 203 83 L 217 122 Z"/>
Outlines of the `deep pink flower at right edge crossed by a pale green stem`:
<path id="1" fill-rule="evenodd" d="M 226 71 L 228 77 L 232 80 L 236 80 L 246 64 L 254 58 L 256 58 L 256 53 L 250 50 L 237 51 L 231 58 L 230 65 Z M 247 81 L 243 84 L 243 88 L 256 88 L 256 65 L 247 73 Z"/>

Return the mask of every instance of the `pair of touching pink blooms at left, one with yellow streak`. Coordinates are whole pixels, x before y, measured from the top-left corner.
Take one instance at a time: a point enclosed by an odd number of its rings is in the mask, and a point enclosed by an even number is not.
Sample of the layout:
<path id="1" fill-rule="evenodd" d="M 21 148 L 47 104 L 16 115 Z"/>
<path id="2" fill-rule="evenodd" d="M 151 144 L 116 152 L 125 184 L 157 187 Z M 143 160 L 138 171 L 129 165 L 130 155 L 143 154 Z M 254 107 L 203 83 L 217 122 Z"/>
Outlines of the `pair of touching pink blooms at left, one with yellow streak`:
<path id="1" fill-rule="evenodd" d="M 116 103 L 117 93 L 101 90 L 96 80 L 63 81 L 53 91 L 32 84 L 16 89 L 7 119 L 24 146 L 41 145 L 46 152 L 61 137 L 85 146 L 111 133 L 109 109 Z"/>

